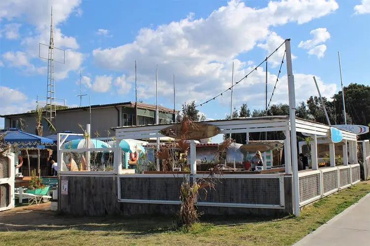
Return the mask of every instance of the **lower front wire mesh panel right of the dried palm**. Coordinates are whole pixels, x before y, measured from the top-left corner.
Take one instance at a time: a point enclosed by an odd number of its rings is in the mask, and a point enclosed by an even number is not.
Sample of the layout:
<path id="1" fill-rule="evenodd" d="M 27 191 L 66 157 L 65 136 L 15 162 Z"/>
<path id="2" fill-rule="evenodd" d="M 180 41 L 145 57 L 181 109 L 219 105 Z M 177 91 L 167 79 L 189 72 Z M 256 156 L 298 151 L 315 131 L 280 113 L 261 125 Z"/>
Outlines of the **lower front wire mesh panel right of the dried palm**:
<path id="1" fill-rule="evenodd" d="M 206 179 L 207 181 L 207 179 Z M 221 178 L 198 202 L 280 205 L 279 179 Z"/>

